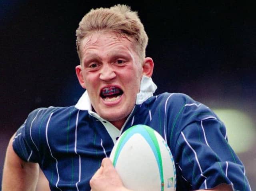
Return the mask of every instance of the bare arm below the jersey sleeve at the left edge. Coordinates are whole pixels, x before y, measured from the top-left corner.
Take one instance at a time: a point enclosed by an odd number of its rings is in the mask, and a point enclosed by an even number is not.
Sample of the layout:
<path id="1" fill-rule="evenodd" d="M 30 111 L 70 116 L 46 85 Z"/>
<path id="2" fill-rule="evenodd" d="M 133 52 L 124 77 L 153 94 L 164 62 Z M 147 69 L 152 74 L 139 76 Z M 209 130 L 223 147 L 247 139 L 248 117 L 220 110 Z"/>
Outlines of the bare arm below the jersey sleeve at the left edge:
<path id="1" fill-rule="evenodd" d="M 2 179 L 2 191 L 33 191 L 38 180 L 39 166 L 37 163 L 25 162 L 14 152 L 12 140 L 7 147 Z"/>

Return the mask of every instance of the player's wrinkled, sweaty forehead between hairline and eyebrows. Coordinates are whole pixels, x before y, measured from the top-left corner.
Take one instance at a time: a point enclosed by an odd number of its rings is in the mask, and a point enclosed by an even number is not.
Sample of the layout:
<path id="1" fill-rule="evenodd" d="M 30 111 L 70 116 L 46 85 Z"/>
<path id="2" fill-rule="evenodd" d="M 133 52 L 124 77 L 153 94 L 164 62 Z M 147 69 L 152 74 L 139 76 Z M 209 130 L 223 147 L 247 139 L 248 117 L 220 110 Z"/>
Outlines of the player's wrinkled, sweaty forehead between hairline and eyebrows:
<path id="1" fill-rule="evenodd" d="M 82 40 L 81 53 L 84 55 L 97 50 L 101 52 L 111 50 L 134 52 L 134 43 L 131 38 L 115 32 L 95 32 Z"/>

